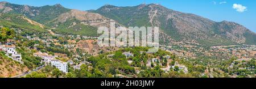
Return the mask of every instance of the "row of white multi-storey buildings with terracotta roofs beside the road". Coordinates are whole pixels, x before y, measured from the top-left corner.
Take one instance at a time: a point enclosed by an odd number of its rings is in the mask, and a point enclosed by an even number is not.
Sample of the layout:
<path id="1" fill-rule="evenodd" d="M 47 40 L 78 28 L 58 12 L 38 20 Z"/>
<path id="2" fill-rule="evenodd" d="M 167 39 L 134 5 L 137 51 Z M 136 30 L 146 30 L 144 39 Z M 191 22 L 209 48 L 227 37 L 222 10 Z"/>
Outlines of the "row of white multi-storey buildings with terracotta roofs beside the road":
<path id="1" fill-rule="evenodd" d="M 60 60 L 56 60 L 56 56 L 51 56 L 47 53 L 42 53 L 42 52 L 34 53 L 34 56 L 41 57 L 42 63 L 44 62 L 46 65 L 51 64 L 52 66 L 57 67 L 57 69 L 59 69 L 60 71 L 63 71 L 64 73 L 68 73 L 68 63 Z"/>

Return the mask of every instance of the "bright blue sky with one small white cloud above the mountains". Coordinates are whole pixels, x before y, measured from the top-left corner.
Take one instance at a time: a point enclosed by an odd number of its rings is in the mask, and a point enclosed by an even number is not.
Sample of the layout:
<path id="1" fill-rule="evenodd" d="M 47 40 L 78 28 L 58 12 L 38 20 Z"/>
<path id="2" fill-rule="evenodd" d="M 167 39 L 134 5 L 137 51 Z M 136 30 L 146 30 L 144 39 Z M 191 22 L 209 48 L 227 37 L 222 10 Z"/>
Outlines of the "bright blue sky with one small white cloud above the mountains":
<path id="1" fill-rule="evenodd" d="M 3 0 L 0 0 L 3 1 Z M 242 24 L 256 32 L 256 0 L 4 0 L 19 5 L 44 6 L 60 3 L 69 9 L 92 10 L 103 5 L 136 6 L 160 3 L 168 9 L 192 13 L 221 22 Z M 236 5 L 235 5 L 236 4 Z"/>

